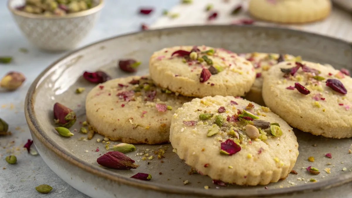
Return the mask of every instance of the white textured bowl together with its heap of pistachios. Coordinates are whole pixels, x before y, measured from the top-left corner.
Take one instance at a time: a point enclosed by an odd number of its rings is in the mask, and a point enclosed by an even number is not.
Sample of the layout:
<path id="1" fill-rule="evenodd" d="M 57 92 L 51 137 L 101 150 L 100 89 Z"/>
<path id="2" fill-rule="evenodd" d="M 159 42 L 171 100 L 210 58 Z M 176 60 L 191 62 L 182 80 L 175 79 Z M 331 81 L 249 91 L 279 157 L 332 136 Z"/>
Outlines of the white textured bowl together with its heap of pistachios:
<path id="1" fill-rule="evenodd" d="M 93 29 L 103 0 L 8 0 L 7 6 L 30 43 L 63 51 L 77 47 Z"/>

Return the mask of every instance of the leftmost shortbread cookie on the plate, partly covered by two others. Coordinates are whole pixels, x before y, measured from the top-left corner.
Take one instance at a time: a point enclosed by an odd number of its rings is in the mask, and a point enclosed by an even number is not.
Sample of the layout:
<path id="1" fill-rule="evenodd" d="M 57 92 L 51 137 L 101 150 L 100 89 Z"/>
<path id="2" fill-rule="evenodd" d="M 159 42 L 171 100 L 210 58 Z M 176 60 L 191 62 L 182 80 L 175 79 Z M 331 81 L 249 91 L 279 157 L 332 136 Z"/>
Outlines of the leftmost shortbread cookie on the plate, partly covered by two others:
<path id="1" fill-rule="evenodd" d="M 110 140 L 169 142 L 172 115 L 191 99 L 156 87 L 149 77 L 113 79 L 89 92 L 87 121 L 95 132 Z"/>

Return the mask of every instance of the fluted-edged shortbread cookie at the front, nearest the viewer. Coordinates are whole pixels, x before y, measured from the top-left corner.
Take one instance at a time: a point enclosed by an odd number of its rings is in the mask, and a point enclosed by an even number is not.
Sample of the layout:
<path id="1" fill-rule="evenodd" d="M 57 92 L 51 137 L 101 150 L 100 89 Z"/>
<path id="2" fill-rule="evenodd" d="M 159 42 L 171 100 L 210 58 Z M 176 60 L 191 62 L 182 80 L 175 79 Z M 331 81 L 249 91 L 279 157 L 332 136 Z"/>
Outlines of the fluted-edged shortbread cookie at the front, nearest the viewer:
<path id="1" fill-rule="evenodd" d="M 285 178 L 298 156 L 297 138 L 279 116 L 242 98 L 196 98 L 176 110 L 170 141 L 199 173 L 238 185 Z"/>

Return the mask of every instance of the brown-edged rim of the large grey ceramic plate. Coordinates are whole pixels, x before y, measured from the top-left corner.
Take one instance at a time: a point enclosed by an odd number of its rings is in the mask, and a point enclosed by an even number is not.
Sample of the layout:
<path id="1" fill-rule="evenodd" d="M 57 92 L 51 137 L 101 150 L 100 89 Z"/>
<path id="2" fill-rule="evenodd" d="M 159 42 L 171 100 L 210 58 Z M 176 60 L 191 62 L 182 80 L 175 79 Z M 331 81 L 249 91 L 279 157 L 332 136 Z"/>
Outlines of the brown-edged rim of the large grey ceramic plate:
<path id="1" fill-rule="evenodd" d="M 168 28 L 162 28 L 162 29 L 153 29 L 153 30 L 147 30 L 147 31 L 125 33 L 122 35 L 109 37 L 109 38 L 99 40 L 97 42 L 94 42 L 92 44 L 86 45 L 84 47 L 78 48 L 74 51 L 71 51 L 71 52 L 65 54 L 63 57 L 59 58 L 57 61 L 51 63 L 32 82 L 32 84 L 26 94 L 25 107 L 24 107 L 25 118 L 26 118 L 26 121 L 27 121 L 27 124 L 29 126 L 29 129 L 31 131 L 32 136 L 33 135 L 36 136 L 38 138 L 38 140 L 46 148 L 53 151 L 58 157 L 65 160 L 66 162 L 71 163 L 72 165 L 75 165 L 76 167 L 81 168 L 83 171 L 86 171 L 86 172 L 93 174 L 95 176 L 98 176 L 98 177 L 112 180 L 114 182 L 119 182 L 120 184 L 128 185 L 130 187 L 142 188 L 144 190 L 153 190 L 153 191 L 157 191 L 157 192 L 161 192 L 161 193 L 172 193 L 172 194 L 181 194 L 181 195 L 191 194 L 193 196 L 207 196 L 207 197 L 219 197 L 219 196 L 221 196 L 221 197 L 251 197 L 251 196 L 269 197 L 269 196 L 285 195 L 285 194 L 290 194 L 290 193 L 304 193 L 307 191 L 325 190 L 328 188 L 341 186 L 343 184 L 351 182 L 352 181 L 352 172 L 347 173 L 347 174 L 343 175 L 342 177 L 341 177 L 341 175 L 338 175 L 338 176 L 332 177 L 329 180 L 319 181 L 319 182 L 308 184 L 308 185 L 293 186 L 290 188 L 265 189 L 264 185 L 263 185 L 263 188 L 260 188 L 260 189 L 246 188 L 246 189 L 222 189 L 222 190 L 209 189 L 209 190 L 205 190 L 202 188 L 192 188 L 192 187 L 174 186 L 174 185 L 170 185 L 170 184 L 151 183 L 148 181 L 126 178 L 122 175 L 119 175 L 118 173 L 111 172 L 108 169 L 101 169 L 98 166 L 95 166 L 91 163 L 80 160 L 78 157 L 71 155 L 68 151 L 61 148 L 54 140 L 49 138 L 49 136 L 46 136 L 45 131 L 43 129 L 41 129 L 38 124 L 38 120 L 35 116 L 34 106 L 33 106 L 34 105 L 34 95 L 35 95 L 37 86 L 42 82 L 42 78 L 45 77 L 46 74 L 53 67 L 55 67 L 59 62 L 65 60 L 66 58 L 68 58 L 71 55 L 76 54 L 77 52 L 80 52 L 81 50 L 93 47 L 95 45 L 99 45 L 99 44 L 107 42 L 109 40 L 128 37 L 128 36 L 132 36 L 132 35 L 143 35 L 147 32 L 158 34 L 163 31 L 173 31 L 173 30 L 177 30 L 177 31 L 179 31 L 179 30 L 190 31 L 191 29 L 229 29 L 229 30 L 234 29 L 235 30 L 237 28 L 248 28 L 248 29 L 259 28 L 259 29 L 267 29 L 267 30 L 275 30 L 275 31 L 287 31 L 287 32 L 295 33 L 295 34 L 303 34 L 303 35 L 309 35 L 309 36 L 313 36 L 313 37 L 321 37 L 323 39 L 330 39 L 335 42 L 345 43 L 347 45 L 350 45 L 350 47 L 352 47 L 351 43 L 348 41 L 345 41 L 345 40 L 342 40 L 339 38 L 325 36 L 325 35 L 319 35 L 317 33 L 304 32 L 304 31 L 300 31 L 300 30 L 293 30 L 293 29 L 287 29 L 287 28 L 282 28 L 282 27 L 265 27 L 265 26 L 254 26 L 254 25 L 253 26 L 242 26 L 242 25 L 179 26 L 179 27 L 168 27 Z"/>

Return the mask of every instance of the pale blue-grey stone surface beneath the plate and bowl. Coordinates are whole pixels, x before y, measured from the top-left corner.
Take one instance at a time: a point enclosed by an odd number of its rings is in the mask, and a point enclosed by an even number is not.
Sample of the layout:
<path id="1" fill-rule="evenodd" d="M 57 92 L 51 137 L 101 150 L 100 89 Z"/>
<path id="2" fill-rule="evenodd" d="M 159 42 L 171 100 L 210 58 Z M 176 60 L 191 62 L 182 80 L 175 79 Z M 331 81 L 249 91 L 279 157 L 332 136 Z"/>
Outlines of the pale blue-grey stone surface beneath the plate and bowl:
<path id="1" fill-rule="evenodd" d="M 100 20 L 80 46 L 122 33 L 139 31 L 141 23 L 151 24 L 161 16 L 163 9 L 170 9 L 178 2 L 105 0 Z M 5 0 L 0 0 L 0 56 L 13 56 L 14 61 L 11 64 L 0 64 L 0 76 L 15 70 L 24 73 L 27 80 L 17 91 L 6 92 L 0 89 L 0 117 L 8 122 L 12 132 L 12 136 L 0 136 L 0 198 L 87 198 L 52 172 L 39 155 L 32 156 L 22 148 L 27 139 L 31 139 L 24 116 L 27 89 L 42 70 L 67 52 L 49 53 L 34 48 L 21 34 L 5 3 Z M 140 16 L 140 6 L 154 7 L 155 10 L 148 16 Z M 26 48 L 29 52 L 24 54 L 19 48 Z M 5 157 L 10 154 L 17 156 L 17 164 L 10 165 L 5 161 Z M 48 184 L 54 190 L 49 194 L 40 194 L 35 187 L 41 184 Z"/>

